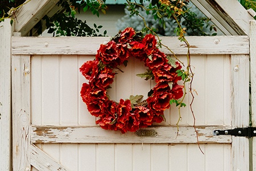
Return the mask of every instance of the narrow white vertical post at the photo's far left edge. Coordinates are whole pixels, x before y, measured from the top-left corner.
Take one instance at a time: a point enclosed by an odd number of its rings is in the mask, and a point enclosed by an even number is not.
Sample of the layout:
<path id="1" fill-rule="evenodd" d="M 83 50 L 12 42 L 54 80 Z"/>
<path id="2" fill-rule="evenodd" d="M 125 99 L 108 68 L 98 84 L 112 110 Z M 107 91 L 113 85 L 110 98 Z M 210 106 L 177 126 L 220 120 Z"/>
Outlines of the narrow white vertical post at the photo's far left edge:
<path id="1" fill-rule="evenodd" d="M 11 36 L 10 19 L 0 23 L 0 161 L 11 169 Z"/>

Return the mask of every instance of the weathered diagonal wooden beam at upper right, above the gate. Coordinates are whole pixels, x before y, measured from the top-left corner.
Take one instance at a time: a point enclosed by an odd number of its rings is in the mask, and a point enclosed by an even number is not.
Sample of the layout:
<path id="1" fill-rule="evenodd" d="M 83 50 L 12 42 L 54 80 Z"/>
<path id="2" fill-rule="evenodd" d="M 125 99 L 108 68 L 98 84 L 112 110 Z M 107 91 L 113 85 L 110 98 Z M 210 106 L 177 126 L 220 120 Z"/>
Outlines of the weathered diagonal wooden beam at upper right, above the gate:
<path id="1" fill-rule="evenodd" d="M 249 35 L 253 17 L 234 0 L 191 0 L 225 35 Z"/>

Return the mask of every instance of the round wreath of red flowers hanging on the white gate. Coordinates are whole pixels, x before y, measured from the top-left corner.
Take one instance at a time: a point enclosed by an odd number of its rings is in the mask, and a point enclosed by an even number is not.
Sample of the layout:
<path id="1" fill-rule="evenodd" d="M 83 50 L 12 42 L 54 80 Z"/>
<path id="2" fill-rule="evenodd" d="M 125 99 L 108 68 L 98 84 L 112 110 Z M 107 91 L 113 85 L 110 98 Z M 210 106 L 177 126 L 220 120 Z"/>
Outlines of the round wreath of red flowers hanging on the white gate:
<path id="1" fill-rule="evenodd" d="M 132 104 L 130 99 L 120 99 L 118 103 L 107 95 L 106 89 L 114 81 L 113 69 L 127 64 L 129 57 L 143 61 L 156 82 L 148 93 L 149 97 L 140 103 Z M 82 85 L 82 101 L 90 114 L 98 117 L 96 123 L 105 130 L 135 132 L 154 122 L 162 122 L 164 110 L 170 107 L 170 100 L 183 96 L 183 86 L 177 84 L 181 77 L 177 76 L 176 71 L 180 69 L 179 62 L 171 65 L 167 56 L 159 51 L 155 36 L 148 34 L 142 37 L 129 27 L 107 44 L 101 44 L 96 59 L 81 66 L 80 72 L 89 80 L 89 84 Z"/>

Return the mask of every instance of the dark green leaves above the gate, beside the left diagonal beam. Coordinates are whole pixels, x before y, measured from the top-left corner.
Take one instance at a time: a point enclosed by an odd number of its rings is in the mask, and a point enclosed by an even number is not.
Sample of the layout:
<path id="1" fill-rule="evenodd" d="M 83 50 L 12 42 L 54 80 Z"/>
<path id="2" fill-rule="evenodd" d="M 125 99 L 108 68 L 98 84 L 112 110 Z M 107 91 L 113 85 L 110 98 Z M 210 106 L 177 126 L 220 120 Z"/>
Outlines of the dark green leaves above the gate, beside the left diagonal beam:
<path id="1" fill-rule="evenodd" d="M 57 12 L 51 18 L 47 15 L 43 19 L 46 20 L 46 26 L 49 28 L 48 33 L 53 34 L 53 36 L 105 36 L 100 34 L 100 28 L 102 26 L 97 26 L 94 24 L 93 27 L 86 24 L 86 20 L 83 22 L 75 17 L 76 12 L 87 11 L 90 9 L 94 15 L 99 16 L 101 10 L 105 13 L 106 5 L 103 1 L 70 1 L 61 0 L 58 5 L 62 6 L 65 10 Z M 40 34 L 40 33 L 39 33 Z"/>

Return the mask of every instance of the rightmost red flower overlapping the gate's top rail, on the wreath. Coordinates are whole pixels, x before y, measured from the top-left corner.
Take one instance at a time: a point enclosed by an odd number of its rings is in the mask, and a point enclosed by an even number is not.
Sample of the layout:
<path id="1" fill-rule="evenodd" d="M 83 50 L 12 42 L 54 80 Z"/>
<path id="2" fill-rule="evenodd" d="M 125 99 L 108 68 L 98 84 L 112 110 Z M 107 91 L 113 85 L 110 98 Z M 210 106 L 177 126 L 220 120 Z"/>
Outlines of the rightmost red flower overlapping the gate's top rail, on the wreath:
<path id="1" fill-rule="evenodd" d="M 148 34 L 146 35 L 142 43 L 144 44 L 144 51 L 147 53 L 147 55 L 151 55 L 155 49 L 156 49 L 156 39 L 155 36 Z"/>

